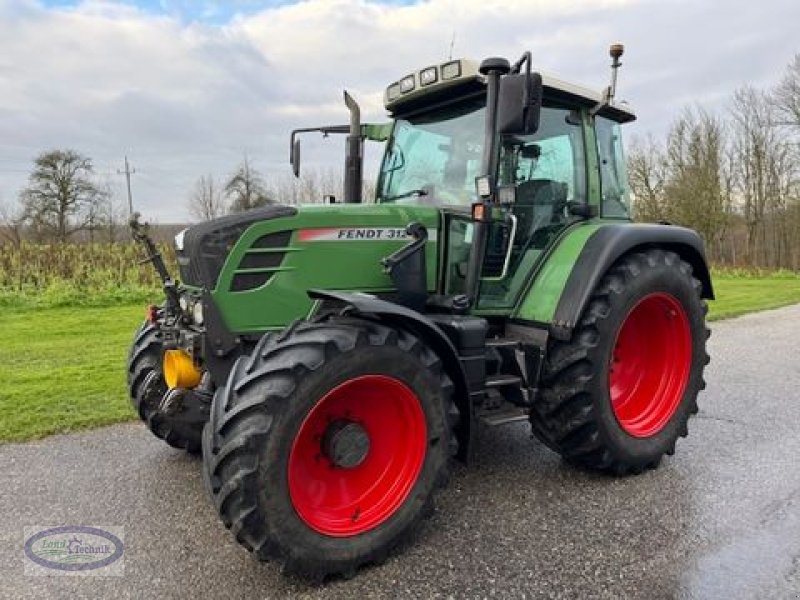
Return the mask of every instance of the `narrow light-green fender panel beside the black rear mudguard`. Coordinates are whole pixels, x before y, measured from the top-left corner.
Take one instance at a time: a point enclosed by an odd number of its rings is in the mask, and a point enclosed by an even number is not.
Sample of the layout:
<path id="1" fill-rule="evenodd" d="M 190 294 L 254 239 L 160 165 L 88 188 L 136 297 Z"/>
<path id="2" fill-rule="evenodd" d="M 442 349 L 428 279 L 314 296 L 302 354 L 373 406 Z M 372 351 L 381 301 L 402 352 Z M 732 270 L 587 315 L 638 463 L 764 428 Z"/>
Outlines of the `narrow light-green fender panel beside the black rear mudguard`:
<path id="1" fill-rule="evenodd" d="M 539 269 L 533 285 L 512 317 L 542 323 L 553 320 L 567 278 L 572 273 L 581 250 L 592 234 L 602 226 L 602 223 L 595 221 L 578 225 L 567 233 Z"/>

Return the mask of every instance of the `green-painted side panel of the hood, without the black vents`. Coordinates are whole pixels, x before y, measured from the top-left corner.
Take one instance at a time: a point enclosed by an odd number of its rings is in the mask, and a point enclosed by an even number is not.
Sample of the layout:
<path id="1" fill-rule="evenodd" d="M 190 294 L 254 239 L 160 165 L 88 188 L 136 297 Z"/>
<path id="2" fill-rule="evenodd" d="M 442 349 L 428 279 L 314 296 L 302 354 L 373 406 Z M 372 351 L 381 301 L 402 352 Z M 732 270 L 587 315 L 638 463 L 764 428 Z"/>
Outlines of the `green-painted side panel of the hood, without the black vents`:
<path id="1" fill-rule="evenodd" d="M 430 206 L 394 204 L 336 204 L 301 206 L 296 215 L 251 225 L 231 250 L 212 292 L 222 316 L 235 333 L 266 331 L 285 327 L 294 319 L 306 318 L 314 303 L 307 291 L 313 288 L 379 292 L 393 289 L 380 260 L 401 248 L 408 240 L 365 239 L 355 230 L 365 228 L 405 229 L 411 222 L 423 224 L 434 237 L 438 233 L 439 210 Z M 340 229 L 353 229 L 339 239 Z M 289 247 L 278 267 L 255 269 L 272 272 L 262 286 L 232 292 L 236 273 L 255 240 L 278 231 L 293 231 Z M 333 231 L 331 231 L 333 230 Z M 351 237 L 348 237 L 350 235 Z M 397 235 L 384 231 L 381 237 Z M 436 240 L 426 246 L 428 289 L 436 287 Z"/>

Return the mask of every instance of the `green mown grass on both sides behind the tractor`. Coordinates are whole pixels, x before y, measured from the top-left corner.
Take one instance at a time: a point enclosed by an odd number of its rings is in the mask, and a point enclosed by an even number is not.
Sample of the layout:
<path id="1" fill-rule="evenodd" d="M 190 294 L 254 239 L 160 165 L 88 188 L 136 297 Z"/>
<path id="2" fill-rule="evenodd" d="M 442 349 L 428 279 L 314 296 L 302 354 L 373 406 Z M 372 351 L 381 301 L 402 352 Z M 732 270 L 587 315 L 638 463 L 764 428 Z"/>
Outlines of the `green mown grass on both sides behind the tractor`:
<path id="1" fill-rule="evenodd" d="M 710 319 L 800 302 L 800 278 L 715 277 Z M 0 442 L 135 417 L 125 358 L 143 305 L 0 313 Z"/>

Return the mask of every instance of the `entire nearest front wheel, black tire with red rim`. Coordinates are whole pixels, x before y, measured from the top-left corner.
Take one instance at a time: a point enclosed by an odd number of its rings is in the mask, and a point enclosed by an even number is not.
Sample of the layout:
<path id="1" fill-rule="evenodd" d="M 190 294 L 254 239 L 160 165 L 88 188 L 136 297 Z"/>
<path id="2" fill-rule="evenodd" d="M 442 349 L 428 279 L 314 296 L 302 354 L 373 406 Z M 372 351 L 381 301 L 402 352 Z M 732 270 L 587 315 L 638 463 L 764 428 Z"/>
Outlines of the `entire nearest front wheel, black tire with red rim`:
<path id="1" fill-rule="evenodd" d="M 452 385 L 414 336 L 355 319 L 265 336 L 214 397 L 206 483 L 262 560 L 311 578 L 380 562 L 455 452 Z"/>

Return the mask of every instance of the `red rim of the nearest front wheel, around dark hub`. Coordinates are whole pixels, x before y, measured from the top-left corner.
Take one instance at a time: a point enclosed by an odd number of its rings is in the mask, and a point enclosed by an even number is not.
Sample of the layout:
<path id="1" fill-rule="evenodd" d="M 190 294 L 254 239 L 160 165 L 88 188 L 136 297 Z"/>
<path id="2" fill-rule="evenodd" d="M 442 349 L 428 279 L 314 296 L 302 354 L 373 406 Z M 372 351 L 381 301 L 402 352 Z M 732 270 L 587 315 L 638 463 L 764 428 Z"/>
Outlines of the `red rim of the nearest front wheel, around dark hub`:
<path id="1" fill-rule="evenodd" d="M 331 424 L 356 423 L 369 439 L 360 464 L 337 466 L 323 439 Z M 289 494 L 312 529 L 346 537 L 377 527 L 402 506 L 427 450 L 427 426 L 416 394 L 383 375 L 345 381 L 306 416 L 289 454 Z"/>

